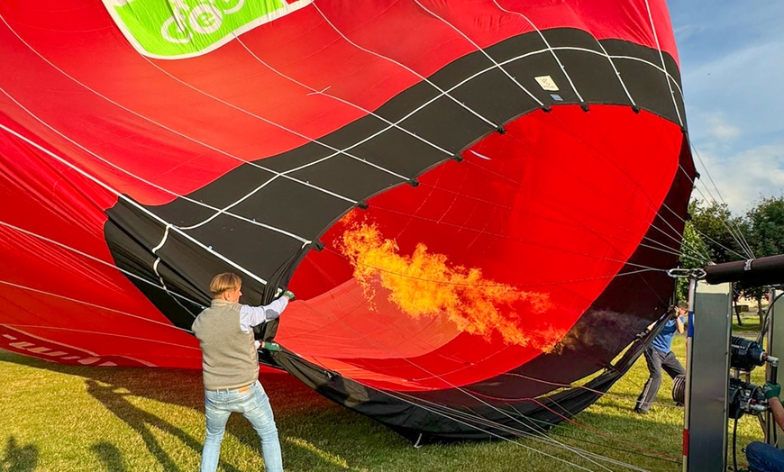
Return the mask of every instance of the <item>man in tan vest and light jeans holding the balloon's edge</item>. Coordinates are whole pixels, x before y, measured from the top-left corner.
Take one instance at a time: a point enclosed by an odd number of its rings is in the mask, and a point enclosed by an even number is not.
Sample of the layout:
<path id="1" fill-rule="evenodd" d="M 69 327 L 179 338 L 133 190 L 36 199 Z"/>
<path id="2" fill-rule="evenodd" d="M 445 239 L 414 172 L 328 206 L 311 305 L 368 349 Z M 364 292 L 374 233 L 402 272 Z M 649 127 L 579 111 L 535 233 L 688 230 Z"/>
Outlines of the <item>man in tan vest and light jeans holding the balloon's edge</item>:
<path id="1" fill-rule="evenodd" d="M 242 279 L 230 272 L 210 283 L 213 301 L 196 317 L 193 331 L 202 349 L 205 383 L 206 438 L 201 472 L 214 472 L 221 454 L 223 433 L 232 413 L 242 413 L 259 434 L 264 466 L 282 472 L 278 428 L 269 397 L 259 382 L 259 353 L 253 326 L 283 313 L 294 294 L 286 291 L 271 304 L 240 304 Z"/>

